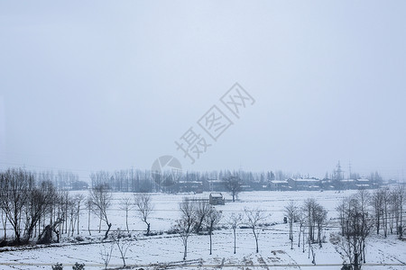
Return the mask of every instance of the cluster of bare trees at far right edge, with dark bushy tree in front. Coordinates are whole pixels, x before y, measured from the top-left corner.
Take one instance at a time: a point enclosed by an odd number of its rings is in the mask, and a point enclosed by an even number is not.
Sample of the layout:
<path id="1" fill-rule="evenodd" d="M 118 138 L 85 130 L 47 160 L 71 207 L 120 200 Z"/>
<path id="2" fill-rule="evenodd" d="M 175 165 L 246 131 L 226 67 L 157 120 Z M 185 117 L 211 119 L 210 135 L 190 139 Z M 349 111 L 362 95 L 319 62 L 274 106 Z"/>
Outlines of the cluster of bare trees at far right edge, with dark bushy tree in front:
<path id="1" fill-rule="evenodd" d="M 359 190 L 337 206 L 340 237 L 337 246 L 351 266 L 360 269 L 366 261 L 366 239 L 376 234 L 386 238 L 396 234 L 402 238 L 405 191 L 403 185 L 370 193 Z"/>

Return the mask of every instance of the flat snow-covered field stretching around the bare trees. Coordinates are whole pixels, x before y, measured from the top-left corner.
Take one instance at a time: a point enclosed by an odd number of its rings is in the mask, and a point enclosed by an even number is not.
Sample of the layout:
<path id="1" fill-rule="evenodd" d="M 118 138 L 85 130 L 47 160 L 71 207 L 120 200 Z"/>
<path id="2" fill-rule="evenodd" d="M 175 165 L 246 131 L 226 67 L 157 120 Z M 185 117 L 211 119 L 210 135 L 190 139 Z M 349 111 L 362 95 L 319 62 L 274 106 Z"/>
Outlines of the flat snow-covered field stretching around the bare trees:
<path id="1" fill-rule="evenodd" d="M 131 211 L 129 229 L 131 246 L 126 254 L 126 265 L 144 269 L 340 269 L 343 259 L 336 247 L 329 242 L 331 232 L 337 232 L 337 203 L 342 198 L 354 193 L 328 192 L 252 192 L 241 193 L 238 202 L 226 202 L 217 206 L 223 212 L 220 230 L 213 234 L 213 255 L 209 255 L 209 238 L 207 235 L 192 235 L 188 243 L 188 257 L 184 262 L 183 246 L 176 234 L 162 233 L 156 236 L 143 236 L 144 223 Z M 109 211 L 112 229 L 125 229 L 125 211 L 119 209 L 119 199 L 132 196 L 131 193 L 115 193 L 114 203 Z M 202 194 L 152 194 L 155 211 L 152 213 L 151 229 L 163 232 L 171 229 L 179 218 L 179 202 L 184 196 L 208 198 Z M 295 245 L 291 249 L 288 238 L 288 224 L 283 223 L 283 207 L 294 200 L 301 204 L 308 198 L 315 198 L 328 210 L 328 227 L 325 230 L 327 241 L 323 247 L 314 245 L 316 266 L 308 257 L 308 247 L 302 252 L 298 247 L 298 228 L 294 228 Z M 226 194 L 226 199 L 230 199 Z M 250 229 L 237 229 L 236 254 L 233 254 L 233 231 L 226 229 L 227 217 L 233 212 L 244 213 L 244 208 L 259 208 L 270 216 L 264 223 L 273 224 L 263 228 L 259 237 L 259 253 L 255 253 L 254 236 Z M 52 265 L 62 263 L 64 269 L 78 263 L 85 263 L 85 269 L 104 268 L 100 251 L 111 247 L 108 240 L 101 243 L 103 231 L 98 233 L 97 217 L 92 217 L 92 236 L 88 235 L 88 212 L 81 213 L 80 236 L 84 241 L 73 242 L 73 238 L 63 238 L 59 244 L 39 247 L 3 247 L 0 249 L 0 269 L 51 269 Z M 104 227 L 102 227 L 104 229 Z M 0 235 L 1 236 L 1 235 Z M 66 235 L 65 235 L 66 236 Z M 77 234 L 75 233 L 75 236 Z M 372 235 L 366 248 L 366 264 L 363 269 L 406 269 L 406 242 L 389 236 L 383 238 Z M 118 249 L 114 247 L 109 268 L 123 266 Z"/>

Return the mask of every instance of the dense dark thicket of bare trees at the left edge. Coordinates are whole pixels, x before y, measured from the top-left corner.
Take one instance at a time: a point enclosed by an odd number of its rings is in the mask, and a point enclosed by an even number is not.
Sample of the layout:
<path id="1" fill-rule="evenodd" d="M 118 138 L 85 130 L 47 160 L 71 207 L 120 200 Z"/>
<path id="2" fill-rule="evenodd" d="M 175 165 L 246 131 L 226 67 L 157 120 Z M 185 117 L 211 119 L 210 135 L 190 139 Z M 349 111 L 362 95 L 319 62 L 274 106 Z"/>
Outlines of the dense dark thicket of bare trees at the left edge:
<path id="1" fill-rule="evenodd" d="M 37 183 L 35 175 L 23 169 L 8 169 L 0 173 L 0 211 L 7 244 L 7 228 L 14 235 L 12 243 L 25 244 L 38 236 L 39 242 L 49 242 L 52 234 L 57 241 L 61 234 L 73 235 L 79 230 L 80 209 L 85 196 L 58 192 L 51 181 Z"/>

